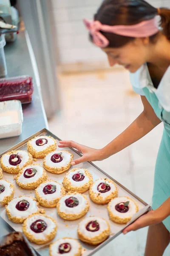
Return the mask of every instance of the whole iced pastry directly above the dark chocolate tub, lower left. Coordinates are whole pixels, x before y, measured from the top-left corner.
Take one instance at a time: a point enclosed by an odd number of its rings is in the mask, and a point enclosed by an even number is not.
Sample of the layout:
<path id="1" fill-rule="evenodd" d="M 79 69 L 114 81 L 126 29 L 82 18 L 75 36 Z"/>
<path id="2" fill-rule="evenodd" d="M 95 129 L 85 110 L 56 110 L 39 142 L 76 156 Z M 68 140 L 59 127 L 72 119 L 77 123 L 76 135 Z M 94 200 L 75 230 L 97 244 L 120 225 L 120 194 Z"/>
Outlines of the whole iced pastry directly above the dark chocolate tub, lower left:
<path id="1" fill-rule="evenodd" d="M 37 200 L 29 196 L 14 198 L 6 206 L 6 213 L 10 221 L 23 223 L 33 213 L 39 213 Z"/>

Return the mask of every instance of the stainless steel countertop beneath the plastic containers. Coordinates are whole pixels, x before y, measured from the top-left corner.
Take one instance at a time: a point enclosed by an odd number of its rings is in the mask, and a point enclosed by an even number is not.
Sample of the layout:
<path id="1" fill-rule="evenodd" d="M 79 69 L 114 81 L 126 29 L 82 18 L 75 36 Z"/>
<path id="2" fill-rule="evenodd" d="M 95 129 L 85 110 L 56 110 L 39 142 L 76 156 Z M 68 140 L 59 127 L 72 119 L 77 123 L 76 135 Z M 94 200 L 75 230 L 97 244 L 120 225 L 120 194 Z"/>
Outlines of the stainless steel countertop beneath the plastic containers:
<path id="1" fill-rule="evenodd" d="M 41 91 L 40 87 L 38 87 L 36 84 L 24 31 L 17 35 L 17 40 L 15 42 L 6 44 L 5 55 L 8 70 L 7 77 L 22 75 L 32 76 L 34 81 L 34 93 L 32 102 L 22 105 L 22 134 L 19 137 L 0 139 L 0 154 L 17 143 L 20 143 L 22 140 L 30 137 L 37 131 L 40 131 L 43 128 L 48 128 L 48 122 L 42 103 Z"/>

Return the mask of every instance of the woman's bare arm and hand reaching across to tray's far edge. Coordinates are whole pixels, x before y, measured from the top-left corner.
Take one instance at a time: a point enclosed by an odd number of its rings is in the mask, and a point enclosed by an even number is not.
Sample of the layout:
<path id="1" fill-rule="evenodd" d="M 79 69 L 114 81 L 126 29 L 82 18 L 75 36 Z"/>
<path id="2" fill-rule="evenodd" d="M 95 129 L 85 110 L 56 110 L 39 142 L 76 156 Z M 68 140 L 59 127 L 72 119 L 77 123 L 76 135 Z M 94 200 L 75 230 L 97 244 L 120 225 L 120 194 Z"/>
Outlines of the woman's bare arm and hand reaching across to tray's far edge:
<path id="1" fill-rule="evenodd" d="M 82 153 L 82 157 L 75 159 L 74 162 L 72 162 L 72 165 L 85 161 L 104 160 L 141 139 L 144 135 L 155 128 L 161 120 L 156 116 L 146 97 L 141 96 L 141 99 L 144 106 L 142 113 L 127 127 L 125 131 L 119 134 L 119 136 L 104 148 L 95 149 L 80 145 L 74 141 L 60 141 L 60 148 L 72 147 Z"/>

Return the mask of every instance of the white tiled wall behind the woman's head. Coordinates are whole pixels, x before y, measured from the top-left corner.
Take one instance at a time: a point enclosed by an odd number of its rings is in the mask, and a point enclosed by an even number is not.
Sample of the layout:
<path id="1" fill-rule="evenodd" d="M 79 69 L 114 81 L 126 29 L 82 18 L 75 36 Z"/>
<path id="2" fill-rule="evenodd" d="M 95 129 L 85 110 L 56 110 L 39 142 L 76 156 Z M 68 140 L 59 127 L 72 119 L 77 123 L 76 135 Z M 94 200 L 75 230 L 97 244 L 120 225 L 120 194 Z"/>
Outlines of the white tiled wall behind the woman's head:
<path id="1" fill-rule="evenodd" d="M 105 62 L 105 54 L 88 40 L 88 31 L 82 23 L 83 18 L 93 18 L 102 0 L 52 1 L 59 47 L 59 62 L 61 64 Z M 170 7 L 170 0 L 148 0 L 148 2 L 155 7 Z"/>

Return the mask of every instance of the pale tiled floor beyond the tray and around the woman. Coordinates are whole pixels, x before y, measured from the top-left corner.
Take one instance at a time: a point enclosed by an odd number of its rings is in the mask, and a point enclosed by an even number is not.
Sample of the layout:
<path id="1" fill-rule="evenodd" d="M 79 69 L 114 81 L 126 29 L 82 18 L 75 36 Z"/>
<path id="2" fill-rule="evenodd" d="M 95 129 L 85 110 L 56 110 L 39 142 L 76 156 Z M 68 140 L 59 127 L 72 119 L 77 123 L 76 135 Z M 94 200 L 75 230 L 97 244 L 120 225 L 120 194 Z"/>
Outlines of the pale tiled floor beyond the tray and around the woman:
<path id="1" fill-rule="evenodd" d="M 62 140 L 101 148 L 141 113 L 140 96 L 133 93 L 129 74 L 122 69 L 59 76 L 62 108 L 49 120 L 50 130 Z M 162 125 L 112 157 L 97 162 L 147 203 L 151 203 L 156 154 Z M 95 256 L 142 256 L 147 228 L 120 235 Z M 170 247 L 164 256 L 170 255 Z"/>

